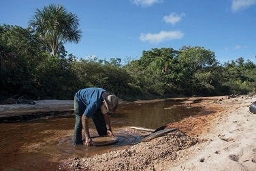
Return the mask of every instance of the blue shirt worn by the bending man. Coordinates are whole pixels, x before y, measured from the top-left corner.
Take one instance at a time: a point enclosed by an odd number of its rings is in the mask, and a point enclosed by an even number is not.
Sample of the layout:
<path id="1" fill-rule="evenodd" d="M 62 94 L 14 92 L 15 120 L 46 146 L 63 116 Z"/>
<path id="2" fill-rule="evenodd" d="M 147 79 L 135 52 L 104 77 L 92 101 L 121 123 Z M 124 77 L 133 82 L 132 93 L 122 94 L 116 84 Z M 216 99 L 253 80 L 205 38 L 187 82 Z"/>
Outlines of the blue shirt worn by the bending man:
<path id="1" fill-rule="evenodd" d="M 91 117 L 101 107 L 103 92 L 107 91 L 103 88 L 85 88 L 76 92 L 76 99 L 86 106 L 84 111 L 86 117 Z"/>

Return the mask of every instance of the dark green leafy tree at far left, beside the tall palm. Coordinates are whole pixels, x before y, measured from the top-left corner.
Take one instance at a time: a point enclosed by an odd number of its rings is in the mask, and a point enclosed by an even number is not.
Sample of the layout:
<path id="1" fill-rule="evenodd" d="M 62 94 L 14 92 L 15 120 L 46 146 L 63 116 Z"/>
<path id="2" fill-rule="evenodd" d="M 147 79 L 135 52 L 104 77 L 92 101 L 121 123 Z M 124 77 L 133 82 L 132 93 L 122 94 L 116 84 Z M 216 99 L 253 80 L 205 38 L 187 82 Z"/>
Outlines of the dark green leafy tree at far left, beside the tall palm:
<path id="1" fill-rule="evenodd" d="M 37 94 L 35 70 L 42 61 L 44 42 L 29 29 L 0 25 L 0 87 L 3 98 Z"/>

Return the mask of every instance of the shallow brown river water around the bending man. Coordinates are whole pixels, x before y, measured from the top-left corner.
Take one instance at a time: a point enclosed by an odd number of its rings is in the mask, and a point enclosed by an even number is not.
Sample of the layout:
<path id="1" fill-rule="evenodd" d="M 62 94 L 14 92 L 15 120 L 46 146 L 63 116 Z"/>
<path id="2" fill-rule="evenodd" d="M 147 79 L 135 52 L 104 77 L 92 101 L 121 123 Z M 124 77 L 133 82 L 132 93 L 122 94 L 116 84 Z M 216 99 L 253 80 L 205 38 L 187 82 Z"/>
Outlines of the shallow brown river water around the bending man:
<path id="1" fill-rule="evenodd" d="M 121 104 L 112 114 L 112 130 L 118 142 L 101 147 L 73 145 L 75 116 L 42 117 L 30 121 L 0 123 L 0 170 L 59 170 L 59 161 L 68 157 L 90 157 L 137 144 L 144 136 L 130 126 L 156 129 L 166 123 L 197 115 L 198 107 L 175 107 L 176 100 Z M 97 136 L 89 123 L 91 136 Z"/>

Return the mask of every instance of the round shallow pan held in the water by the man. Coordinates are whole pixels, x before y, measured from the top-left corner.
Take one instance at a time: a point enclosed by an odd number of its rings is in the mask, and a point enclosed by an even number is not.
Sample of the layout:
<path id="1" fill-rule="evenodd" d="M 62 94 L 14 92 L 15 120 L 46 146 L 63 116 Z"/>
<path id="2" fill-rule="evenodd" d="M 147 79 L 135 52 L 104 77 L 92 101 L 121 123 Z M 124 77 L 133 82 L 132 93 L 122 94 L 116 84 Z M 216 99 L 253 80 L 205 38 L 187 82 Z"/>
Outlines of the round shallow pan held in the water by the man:
<path id="1" fill-rule="evenodd" d="M 93 140 L 95 146 L 113 145 L 118 142 L 118 138 L 115 136 L 94 136 L 91 137 L 91 140 Z"/>

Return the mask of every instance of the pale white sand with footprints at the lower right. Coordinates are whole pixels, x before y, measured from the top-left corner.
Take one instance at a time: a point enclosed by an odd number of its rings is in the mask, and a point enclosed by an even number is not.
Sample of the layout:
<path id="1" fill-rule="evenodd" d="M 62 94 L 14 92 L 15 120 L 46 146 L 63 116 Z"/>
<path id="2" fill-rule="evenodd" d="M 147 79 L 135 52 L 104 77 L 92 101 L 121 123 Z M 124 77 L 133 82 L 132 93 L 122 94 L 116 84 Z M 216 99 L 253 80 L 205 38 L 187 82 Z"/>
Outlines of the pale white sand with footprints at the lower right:
<path id="1" fill-rule="evenodd" d="M 240 97 L 221 102 L 225 110 L 203 136 L 211 140 L 182 151 L 183 157 L 166 170 L 255 171 L 256 115 L 248 107 L 254 101 L 255 97 Z"/>

